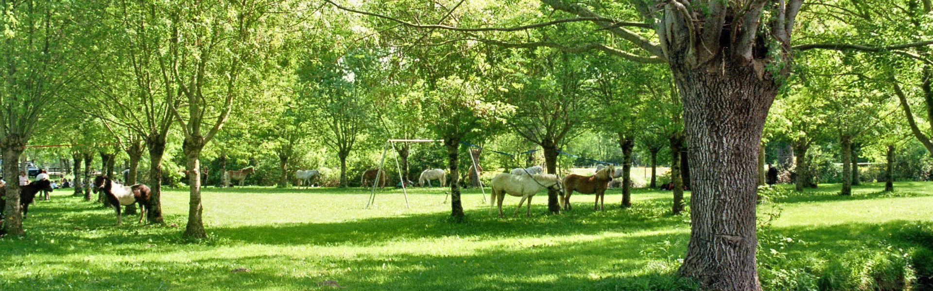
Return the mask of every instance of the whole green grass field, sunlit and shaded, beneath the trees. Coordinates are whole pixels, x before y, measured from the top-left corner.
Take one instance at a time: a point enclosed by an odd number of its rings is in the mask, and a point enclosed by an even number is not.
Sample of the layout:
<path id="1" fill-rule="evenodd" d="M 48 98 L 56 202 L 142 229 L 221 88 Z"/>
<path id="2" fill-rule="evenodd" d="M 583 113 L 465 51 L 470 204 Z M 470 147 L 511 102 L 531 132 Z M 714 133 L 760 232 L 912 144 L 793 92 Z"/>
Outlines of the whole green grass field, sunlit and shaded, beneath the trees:
<path id="1" fill-rule="evenodd" d="M 762 220 L 773 218 L 759 231 L 766 290 L 806 280 L 844 285 L 827 277 L 857 284 L 860 269 L 835 259 L 886 262 L 873 257 L 923 248 L 912 238 L 931 229 L 933 183 L 896 187 L 884 193 L 869 184 L 840 197 L 829 185 L 759 207 Z M 114 226 L 112 210 L 60 191 L 31 208 L 26 237 L 0 240 L 0 290 L 327 290 L 334 282 L 347 290 L 689 288 L 672 275 L 689 215 L 667 214 L 670 192 L 636 190 L 634 207 L 623 210 L 619 190 L 611 191 L 606 212 L 592 211 L 592 196 L 575 195 L 574 211 L 544 215 L 542 193 L 532 217 L 500 219 L 487 215 L 479 191 L 467 190 L 468 221 L 453 224 L 441 188 L 411 191 L 411 209 L 400 190 L 385 190 L 364 210 L 369 192 L 358 188 L 210 187 L 203 194 L 210 238 L 202 242 L 180 239 L 183 189 L 163 195 L 166 224 L 148 226 L 132 217 Z M 507 214 L 517 202 L 506 200 Z M 249 271 L 231 271 L 239 268 Z M 795 268 L 816 269 L 788 272 Z"/>

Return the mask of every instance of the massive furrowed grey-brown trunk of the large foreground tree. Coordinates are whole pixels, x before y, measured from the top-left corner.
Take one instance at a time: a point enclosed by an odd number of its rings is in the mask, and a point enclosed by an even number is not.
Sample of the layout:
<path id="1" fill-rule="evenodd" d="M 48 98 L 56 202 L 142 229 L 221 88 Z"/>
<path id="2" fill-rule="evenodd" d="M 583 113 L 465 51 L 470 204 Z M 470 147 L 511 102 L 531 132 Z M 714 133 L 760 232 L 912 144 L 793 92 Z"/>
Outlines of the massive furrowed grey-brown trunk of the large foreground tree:
<path id="1" fill-rule="evenodd" d="M 757 291 L 755 168 L 778 86 L 753 64 L 714 63 L 715 69 L 671 66 L 684 104 L 689 164 L 683 171 L 692 191 L 690 241 L 680 273 L 707 290 Z"/>

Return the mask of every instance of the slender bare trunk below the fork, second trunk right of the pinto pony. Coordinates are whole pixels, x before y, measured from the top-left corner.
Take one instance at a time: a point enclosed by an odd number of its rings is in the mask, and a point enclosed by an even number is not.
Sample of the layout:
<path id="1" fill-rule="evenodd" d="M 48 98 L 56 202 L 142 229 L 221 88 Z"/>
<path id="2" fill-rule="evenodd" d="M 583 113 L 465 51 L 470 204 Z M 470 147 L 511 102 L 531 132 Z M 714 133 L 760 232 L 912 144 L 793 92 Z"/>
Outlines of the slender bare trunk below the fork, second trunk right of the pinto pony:
<path id="1" fill-rule="evenodd" d="M 183 150 L 185 158 L 188 159 L 188 224 L 185 226 L 184 236 L 192 239 L 202 239 L 207 237 L 202 222 L 202 204 L 201 204 L 201 150 L 204 147 L 204 139 L 195 136 L 192 139 L 185 139 Z"/>

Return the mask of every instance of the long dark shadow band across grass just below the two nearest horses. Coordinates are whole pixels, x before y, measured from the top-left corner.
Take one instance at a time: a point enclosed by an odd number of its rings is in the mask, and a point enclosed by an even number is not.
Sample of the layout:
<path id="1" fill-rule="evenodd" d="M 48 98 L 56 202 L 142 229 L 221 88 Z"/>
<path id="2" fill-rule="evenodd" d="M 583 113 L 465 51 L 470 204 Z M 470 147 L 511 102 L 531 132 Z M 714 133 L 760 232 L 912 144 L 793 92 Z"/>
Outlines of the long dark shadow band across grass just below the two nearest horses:
<path id="1" fill-rule="evenodd" d="M 219 237 L 241 243 L 371 245 L 406 239 L 495 239 L 513 236 L 636 232 L 651 229 L 688 229 L 681 216 L 656 215 L 653 204 L 605 212 L 574 210 L 563 215 L 498 218 L 487 210 L 467 211 L 467 222 L 448 222 L 447 213 L 376 217 L 336 223 L 292 223 L 213 228 Z M 505 211 L 505 208 L 504 208 Z M 508 213 L 508 212 L 507 212 Z"/>

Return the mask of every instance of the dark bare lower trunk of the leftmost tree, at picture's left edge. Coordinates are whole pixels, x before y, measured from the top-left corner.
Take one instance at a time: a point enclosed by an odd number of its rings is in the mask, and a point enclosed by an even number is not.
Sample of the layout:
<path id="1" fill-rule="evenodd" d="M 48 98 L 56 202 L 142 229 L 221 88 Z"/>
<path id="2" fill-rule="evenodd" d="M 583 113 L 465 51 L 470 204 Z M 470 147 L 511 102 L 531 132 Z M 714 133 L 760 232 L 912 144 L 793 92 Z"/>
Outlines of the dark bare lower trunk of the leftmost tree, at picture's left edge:
<path id="1" fill-rule="evenodd" d="M 0 145 L 3 148 L 3 175 L 7 178 L 7 204 L 4 207 L 4 225 L 3 230 L 8 235 L 21 236 L 26 231 L 22 229 L 22 215 L 20 213 L 20 156 L 24 150 L 25 142 L 14 136 L 7 136 L 7 143 Z"/>

